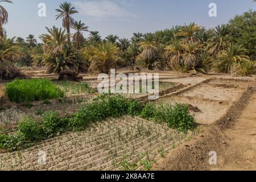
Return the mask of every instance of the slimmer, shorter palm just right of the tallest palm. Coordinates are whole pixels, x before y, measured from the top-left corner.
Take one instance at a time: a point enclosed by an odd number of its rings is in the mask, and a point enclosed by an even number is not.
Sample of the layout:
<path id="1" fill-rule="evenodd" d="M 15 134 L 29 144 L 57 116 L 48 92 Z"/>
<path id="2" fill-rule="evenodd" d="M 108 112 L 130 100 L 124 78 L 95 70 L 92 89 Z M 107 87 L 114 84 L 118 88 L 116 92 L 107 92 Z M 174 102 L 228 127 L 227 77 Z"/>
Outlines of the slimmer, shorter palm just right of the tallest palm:
<path id="1" fill-rule="evenodd" d="M 73 35 L 73 40 L 76 42 L 76 48 L 79 49 L 82 42 L 84 42 L 84 36 L 82 36 L 82 31 L 88 31 L 88 27 L 85 26 L 85 23 L 75 21 L 72 24 L 72 28 L 76 30 L 76 33 Z"/>

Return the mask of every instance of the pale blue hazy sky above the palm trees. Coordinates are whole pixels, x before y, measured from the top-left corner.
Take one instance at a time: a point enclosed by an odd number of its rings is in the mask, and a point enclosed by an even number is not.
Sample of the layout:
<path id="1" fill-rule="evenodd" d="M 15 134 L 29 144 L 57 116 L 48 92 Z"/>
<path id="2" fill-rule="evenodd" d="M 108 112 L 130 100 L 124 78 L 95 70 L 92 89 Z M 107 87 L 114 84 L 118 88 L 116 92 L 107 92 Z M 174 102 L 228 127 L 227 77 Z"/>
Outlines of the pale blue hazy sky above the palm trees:
<path id="1" fill-rule="evenodd" d="M 4 27 L 9 37 L 46 33 L 46 27 L 61 27 L 55 9 L 64 0 L 12 0 L 1 3 L 9 12 L 9 22 Z M 68 0 L 67 0 L 68 1 Z M 228 23 L 236 14 L 256 10 L 253 0 L 75 0 L 71 2 L 79 14 L 73 16 L 89 27 L 100 31 L 102 38 L 109 34 L 131 38 L 133 32 L 155 32 L 177 24 L 195 22 L 207 28 Z M 46 17 L 38 16 L 39 3 L 46 5 Z M 217 17 L 209 16 L 209 4 L 216 3 Z M 89 36 L 88 32 L 84 33 Z"/>

